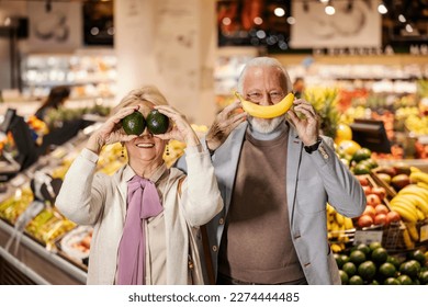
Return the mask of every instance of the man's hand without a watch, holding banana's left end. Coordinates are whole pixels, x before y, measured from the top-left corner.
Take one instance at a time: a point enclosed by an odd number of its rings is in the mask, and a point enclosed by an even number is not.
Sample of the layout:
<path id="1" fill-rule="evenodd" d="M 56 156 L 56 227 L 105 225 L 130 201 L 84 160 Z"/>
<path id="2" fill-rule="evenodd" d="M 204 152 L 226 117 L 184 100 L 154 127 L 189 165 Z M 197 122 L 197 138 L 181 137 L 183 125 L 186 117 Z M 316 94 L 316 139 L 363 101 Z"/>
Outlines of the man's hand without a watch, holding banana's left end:
<path id="1" fill-rule="evenodd" d="M 234 113 L 239 107 L 241 107 L 240 102 L 236 101 L 223 109 L 215 117 L 205 137 L 206 145 L 211 151 L 216 150 L 229 134 L 247 120 L 247 113 Z"/>

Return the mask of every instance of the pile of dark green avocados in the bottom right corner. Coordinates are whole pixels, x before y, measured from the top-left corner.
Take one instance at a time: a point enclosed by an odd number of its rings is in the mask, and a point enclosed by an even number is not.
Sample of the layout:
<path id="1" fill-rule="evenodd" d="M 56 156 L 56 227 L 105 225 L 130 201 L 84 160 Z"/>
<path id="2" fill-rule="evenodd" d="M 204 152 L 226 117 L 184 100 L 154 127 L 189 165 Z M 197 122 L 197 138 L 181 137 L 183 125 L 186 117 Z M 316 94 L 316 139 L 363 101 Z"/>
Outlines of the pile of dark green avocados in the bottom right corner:
<path id="1" fill-rule="evenodd" d="M 390 253 L 381 242 L 335 253 L 342 285 L 427 285 L 428 252 Z"/>

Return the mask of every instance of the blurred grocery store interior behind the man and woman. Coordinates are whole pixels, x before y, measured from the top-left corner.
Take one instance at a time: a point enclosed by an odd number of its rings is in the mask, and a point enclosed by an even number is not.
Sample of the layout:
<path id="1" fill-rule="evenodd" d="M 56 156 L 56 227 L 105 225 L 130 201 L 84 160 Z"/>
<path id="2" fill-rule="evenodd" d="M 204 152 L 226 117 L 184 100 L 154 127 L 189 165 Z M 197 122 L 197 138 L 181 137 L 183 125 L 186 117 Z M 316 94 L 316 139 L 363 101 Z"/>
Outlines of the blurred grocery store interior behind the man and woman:
<path id="1" fill-rule="evenodd" d="M 428 284 L 428 0 L 0 0 L 0 284 L 86 284 L 93 229 L 55 196 L 124 94 L 156 84 L 202 137 L 257 56 L 363 185 L 360 217 L 326 207 L 342 283 Z M 125 159 L 108 146 L 98 170 Z"/>

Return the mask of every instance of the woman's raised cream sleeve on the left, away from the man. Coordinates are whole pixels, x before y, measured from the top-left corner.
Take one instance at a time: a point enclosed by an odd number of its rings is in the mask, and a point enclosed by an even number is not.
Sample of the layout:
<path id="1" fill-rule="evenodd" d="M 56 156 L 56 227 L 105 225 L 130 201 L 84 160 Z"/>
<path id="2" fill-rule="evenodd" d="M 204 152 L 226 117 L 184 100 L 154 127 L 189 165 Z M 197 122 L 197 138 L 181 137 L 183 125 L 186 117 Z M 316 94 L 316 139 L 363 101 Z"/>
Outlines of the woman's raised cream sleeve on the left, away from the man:
<path id="1" fill-rule="evenodd" d="M 98 155 L 83 148 L 66 173 L 55 205 L 69 219 L 93 225 L 105 195 L 103 174 L 95 174 Z"/>

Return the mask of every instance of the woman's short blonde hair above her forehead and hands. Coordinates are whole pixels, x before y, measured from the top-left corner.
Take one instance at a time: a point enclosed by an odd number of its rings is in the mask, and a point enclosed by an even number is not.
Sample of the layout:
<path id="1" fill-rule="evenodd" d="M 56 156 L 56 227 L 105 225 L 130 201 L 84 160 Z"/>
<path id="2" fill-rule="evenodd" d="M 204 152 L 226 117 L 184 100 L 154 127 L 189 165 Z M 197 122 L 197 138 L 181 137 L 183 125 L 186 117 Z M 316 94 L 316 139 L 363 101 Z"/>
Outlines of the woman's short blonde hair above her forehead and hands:
<path id="1" fill-rule="evenodd" d="M 132 90 L 128 92 L 121 102 L 113 107 L 111 114 L 115 114 L 119 110 L 142 103 L 144 101 L 151 102 L 155 105 L 166 104 L 168 105 L 168 101 L 165 95 L 156 88 L 155 86 L 145 86 L 139 89 Z"/>

